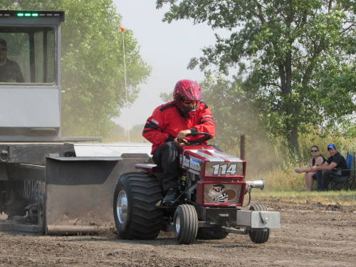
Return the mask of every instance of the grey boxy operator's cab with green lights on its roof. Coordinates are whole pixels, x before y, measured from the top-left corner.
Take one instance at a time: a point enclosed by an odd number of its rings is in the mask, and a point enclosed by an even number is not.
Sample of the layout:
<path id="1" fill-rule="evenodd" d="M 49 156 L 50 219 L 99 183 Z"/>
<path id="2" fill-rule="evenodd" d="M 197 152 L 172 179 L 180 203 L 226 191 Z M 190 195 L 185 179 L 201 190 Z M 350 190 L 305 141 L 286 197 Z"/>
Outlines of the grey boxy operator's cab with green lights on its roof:
<path id="1" fill-rule="evenodd" d="M 0 11 L 0 142 L 56 140 L 63 11 Z"/>

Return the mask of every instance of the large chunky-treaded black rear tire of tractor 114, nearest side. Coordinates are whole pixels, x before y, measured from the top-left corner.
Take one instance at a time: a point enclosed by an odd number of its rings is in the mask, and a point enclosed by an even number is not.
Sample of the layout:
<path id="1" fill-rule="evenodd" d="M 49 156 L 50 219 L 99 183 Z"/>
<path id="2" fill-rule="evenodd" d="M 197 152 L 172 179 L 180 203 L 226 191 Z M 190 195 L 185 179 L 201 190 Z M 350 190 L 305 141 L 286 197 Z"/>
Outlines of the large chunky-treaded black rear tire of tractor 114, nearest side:
<path id="1" fill-rule="evenodd" d="M 117 182 L 114 219 L 120 239 L 155 239 L 162 228 L 157 202 L 162 192 L 157 177 L 146 172 L 127 172 Z"/>

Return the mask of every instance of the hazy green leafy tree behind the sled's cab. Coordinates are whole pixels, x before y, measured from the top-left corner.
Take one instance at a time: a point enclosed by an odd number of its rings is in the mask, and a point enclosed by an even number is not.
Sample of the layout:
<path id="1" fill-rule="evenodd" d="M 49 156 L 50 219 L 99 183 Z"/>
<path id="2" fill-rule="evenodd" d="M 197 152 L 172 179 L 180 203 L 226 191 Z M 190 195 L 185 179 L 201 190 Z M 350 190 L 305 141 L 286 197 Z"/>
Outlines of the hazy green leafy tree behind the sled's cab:
<path id="1" fill-rule="evenodd" d="M 1 1 L 1 9 L 63 10 L 62 135 L 108 137 L 125 103 L 121 17 L 112 0 Z M 125 31 L 128 102 L 150 74 L 137 41 Z"/>

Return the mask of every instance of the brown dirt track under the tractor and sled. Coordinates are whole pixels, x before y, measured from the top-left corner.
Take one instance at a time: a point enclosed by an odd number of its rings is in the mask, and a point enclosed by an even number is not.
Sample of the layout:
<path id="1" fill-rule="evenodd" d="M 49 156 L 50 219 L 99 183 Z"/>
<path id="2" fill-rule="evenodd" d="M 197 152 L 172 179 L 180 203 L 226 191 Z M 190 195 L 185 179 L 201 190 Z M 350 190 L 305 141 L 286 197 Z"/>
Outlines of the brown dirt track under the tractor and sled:
<path id="1" fill-rule="evenodd" d="M 281 211 L 282 228 L 273 230 L 266 244 L 253 244 L 248 236 L 236 234 L 187 246 L 177 245 L 167 234 L 155 241 L 124 241 L 113 233 L 0 233 L 0 266 L 356 266 L 355 209 L 268 206 Z"/>

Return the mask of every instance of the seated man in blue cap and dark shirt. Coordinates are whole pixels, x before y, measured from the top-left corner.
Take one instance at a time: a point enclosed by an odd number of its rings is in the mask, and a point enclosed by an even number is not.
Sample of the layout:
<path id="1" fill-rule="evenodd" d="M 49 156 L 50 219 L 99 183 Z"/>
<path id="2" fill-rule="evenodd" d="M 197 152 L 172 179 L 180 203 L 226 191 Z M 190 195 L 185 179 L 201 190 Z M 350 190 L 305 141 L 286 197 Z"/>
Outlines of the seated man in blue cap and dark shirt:
<path id="1" fill-rule="evenodd" d="M 347 176 L 350 174 L 350 170 L 347 170 L 347 163 L 345 157 L 342 157 L 342 155 L 337 152 L 336 146 L 334 144 L 328 145 L 328 153 L 330 155 L 327 160 L 328 165 L 312 167 L 313 171 L 323 171 L 321 173 L 320 185 L 320 190 L 322 191 L 325 191 L 328 188 L 328 184 L 332 177 Z"/>

